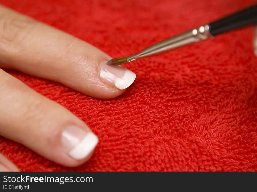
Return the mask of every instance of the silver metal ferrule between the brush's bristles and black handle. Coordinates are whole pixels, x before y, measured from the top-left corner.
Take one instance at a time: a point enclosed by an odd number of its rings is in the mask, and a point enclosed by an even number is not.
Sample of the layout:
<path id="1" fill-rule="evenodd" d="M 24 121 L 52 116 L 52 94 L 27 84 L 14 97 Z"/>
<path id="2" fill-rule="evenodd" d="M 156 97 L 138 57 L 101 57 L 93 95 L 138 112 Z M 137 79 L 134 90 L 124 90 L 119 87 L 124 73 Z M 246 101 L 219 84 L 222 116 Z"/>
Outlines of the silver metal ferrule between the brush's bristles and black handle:
<path id="1" fill-rule="evenodd" d="M 202 40 L 213 37 L 210 33 L 209 24 L 202 25 L 200 27 L 194 28 L 182 34 L 165 39 L 159 43 L 156 43 L 150 47 L 147 47 L 139 53 L 133 54 L 127 57 L 127 61 L 131 62 L 133 60 L 158 55 L 178 47 L 182 47 L 188 44 L 196 43 Z"/>

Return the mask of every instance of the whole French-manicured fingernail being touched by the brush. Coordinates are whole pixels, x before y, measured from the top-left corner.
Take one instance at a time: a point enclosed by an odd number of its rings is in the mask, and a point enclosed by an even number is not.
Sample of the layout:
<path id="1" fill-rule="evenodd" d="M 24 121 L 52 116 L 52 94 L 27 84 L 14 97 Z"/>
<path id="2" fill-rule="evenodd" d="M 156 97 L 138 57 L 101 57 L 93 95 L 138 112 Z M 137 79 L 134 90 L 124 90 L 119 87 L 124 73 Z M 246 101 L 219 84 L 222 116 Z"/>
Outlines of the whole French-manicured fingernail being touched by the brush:
<path id="1" fill-rule="evenodd" d="M 121 66 L 107 65 L 102 63 L 99 67 L 101 80 L 111 87 L 118 89 L 128 88 L 136 79 L 136 74 Z"/>

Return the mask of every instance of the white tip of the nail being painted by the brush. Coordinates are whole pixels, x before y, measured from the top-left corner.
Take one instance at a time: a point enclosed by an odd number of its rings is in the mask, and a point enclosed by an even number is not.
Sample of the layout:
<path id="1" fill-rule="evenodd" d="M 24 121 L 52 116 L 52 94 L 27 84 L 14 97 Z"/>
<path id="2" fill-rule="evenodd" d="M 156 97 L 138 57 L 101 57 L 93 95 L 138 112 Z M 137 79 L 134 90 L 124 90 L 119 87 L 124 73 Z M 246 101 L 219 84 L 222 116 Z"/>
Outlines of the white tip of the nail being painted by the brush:
<path id="1" fill-rule="evenodd" d="M 117 79 L 117 81 L 114 83 L 114 86 L 121 90 L 126 89 L 135 81 L 135 79 L 136 74 L 130 70 L 126 70 L 123 77 Z"/>

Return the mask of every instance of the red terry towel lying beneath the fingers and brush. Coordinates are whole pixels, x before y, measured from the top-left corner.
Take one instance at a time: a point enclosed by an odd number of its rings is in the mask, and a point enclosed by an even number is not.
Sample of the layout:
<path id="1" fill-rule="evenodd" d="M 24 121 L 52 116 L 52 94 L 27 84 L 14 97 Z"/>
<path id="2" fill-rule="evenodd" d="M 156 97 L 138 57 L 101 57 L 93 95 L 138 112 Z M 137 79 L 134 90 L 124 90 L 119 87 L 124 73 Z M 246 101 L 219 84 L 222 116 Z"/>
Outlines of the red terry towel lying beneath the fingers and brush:
<path id="1" fill-rule="evenodd" d="M 254 2 L 0 0 L 112 57 L 130 55 Z M 84 120 L 100 142 L 91 160 L 76 168 L 57 165 L 3 137 L 0 151 L 22 171 L 257 171 L 252 32 L 248 27 L 126 64 L 137 78 L 110 100 L 10 72 Z"/>

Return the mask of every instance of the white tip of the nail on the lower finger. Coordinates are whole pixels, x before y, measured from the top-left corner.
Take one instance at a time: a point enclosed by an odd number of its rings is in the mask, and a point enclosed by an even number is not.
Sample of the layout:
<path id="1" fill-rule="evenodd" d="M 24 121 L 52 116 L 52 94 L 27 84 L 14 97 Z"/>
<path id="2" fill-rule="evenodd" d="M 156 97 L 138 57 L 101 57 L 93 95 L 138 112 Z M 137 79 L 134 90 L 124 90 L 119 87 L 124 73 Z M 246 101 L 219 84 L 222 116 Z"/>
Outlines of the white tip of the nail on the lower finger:
<path id="1" fill-rule="evenodd" d="M 69 152 L 69 155 L 76 160 L 81 160 L 93 151 L 97 143 L 97 136 L 93 133 L 88 133 L 84 139 Z"/>

